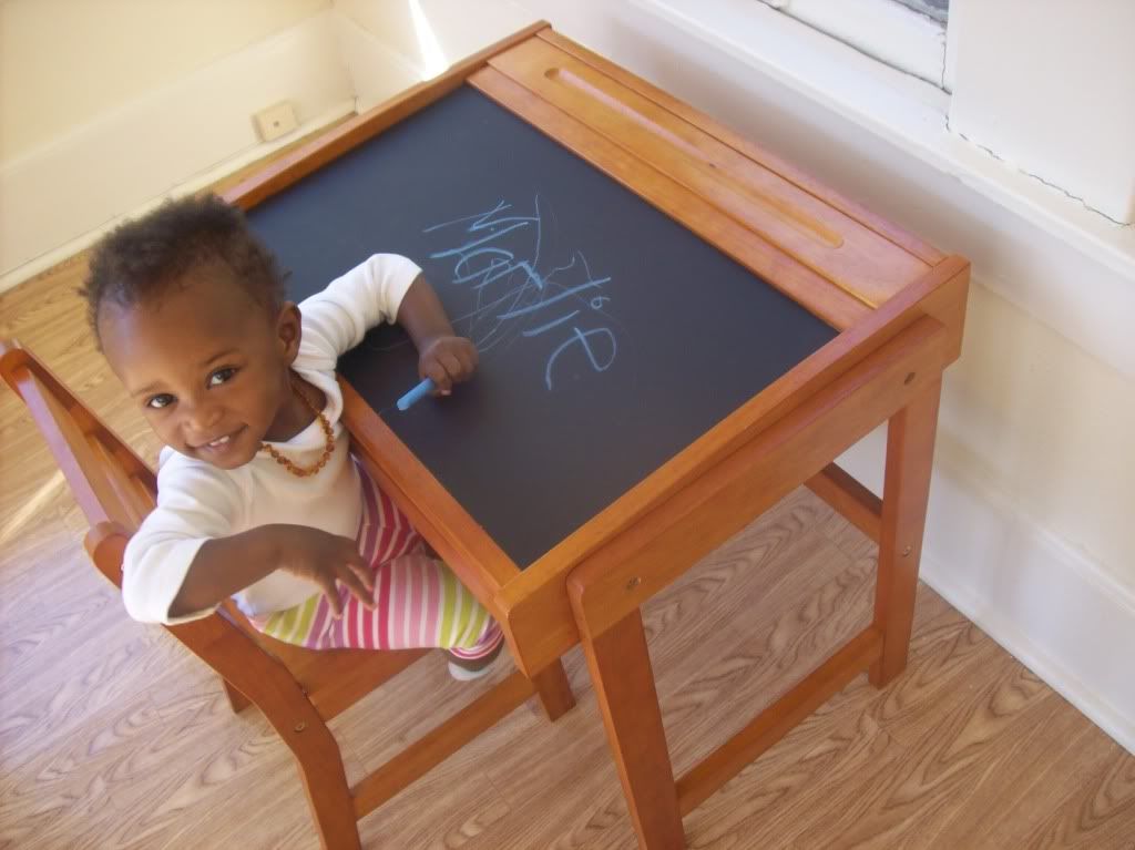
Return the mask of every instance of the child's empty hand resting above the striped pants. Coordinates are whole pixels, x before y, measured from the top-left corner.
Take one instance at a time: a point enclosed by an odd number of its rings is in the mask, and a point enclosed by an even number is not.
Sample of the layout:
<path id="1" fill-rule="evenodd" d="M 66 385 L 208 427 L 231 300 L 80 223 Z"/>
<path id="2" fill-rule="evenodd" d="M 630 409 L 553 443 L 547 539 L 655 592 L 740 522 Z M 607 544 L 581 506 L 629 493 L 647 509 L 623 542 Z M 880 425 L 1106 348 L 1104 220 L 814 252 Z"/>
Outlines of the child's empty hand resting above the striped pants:
<path id="1" fill-rule="evenodd" d="M 305 525 L 272 525 L 279 569 L 323 591 L 331 611 L 343 614 L 336 582 L 343 584 L 368 608 L 375 607 L 375 573 L 348 537 L 330 535 Z"/>

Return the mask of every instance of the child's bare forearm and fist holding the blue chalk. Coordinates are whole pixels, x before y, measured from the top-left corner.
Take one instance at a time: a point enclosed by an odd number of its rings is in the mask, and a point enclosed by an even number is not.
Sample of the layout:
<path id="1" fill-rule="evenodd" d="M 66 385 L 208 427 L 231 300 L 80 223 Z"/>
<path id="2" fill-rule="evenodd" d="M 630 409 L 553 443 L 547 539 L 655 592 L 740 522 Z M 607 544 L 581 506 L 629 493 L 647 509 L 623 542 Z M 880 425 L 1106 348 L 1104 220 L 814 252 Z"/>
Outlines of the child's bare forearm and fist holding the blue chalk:
<path id="1" fill-rule="evenodd" d="M 468 380 L 477 369 L 477 348 L 453 331 L 445 308 L 434 287 L 419 275 L 398 305 L 398 325 L 418 348 L 418 373 L 430 378 L 442 395 Z"/>

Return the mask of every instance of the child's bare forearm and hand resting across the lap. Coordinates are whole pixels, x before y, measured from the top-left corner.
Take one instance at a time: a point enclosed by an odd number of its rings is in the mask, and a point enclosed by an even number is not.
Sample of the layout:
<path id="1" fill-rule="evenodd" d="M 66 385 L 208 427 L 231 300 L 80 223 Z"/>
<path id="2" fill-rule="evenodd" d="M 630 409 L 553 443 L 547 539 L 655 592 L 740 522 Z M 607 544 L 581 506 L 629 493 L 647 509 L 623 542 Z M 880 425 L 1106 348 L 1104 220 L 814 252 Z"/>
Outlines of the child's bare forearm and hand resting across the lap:
<path id="1" fill-rule="evenodd" d="M 261 525 L 207 540 L 197 549 L 169 617 L 213 608 L 276 570 L 321 589 L 336 616 L 342 613 L 336 581 L 372 605 L 375 581 L 354 540 L 305 525 Z"/>

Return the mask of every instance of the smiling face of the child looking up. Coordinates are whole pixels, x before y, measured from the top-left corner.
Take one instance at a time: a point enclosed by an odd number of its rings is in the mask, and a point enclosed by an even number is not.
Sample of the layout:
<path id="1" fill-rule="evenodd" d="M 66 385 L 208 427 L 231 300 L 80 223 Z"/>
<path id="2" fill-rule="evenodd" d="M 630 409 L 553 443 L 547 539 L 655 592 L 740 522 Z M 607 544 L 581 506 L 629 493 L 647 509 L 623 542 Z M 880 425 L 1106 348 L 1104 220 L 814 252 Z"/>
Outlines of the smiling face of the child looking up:
<path id="1" fill-rule="evenodd" d="M 228 273 L 195 273 L 150 302 L 99 312 L 110 368 L 158 436 L 221 469 L 251 461 L 291 404 L 300 347 L 296 306 L 276 314 Z"/>

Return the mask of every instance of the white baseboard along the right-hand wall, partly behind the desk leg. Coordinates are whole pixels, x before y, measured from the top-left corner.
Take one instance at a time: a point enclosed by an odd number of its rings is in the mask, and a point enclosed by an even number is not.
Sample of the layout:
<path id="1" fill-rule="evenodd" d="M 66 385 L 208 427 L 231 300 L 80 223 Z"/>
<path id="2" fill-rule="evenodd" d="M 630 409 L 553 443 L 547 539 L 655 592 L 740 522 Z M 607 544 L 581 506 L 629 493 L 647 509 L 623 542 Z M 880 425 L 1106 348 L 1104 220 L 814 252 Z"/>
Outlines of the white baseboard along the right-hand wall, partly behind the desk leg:
<path id="1" fill-rule="evenodd" d="M 881 490 L 885 429 L 840 463 Z M 935 456 L 922 579 L 1135 754 L 1135 590 L 951 461 Z"/>

